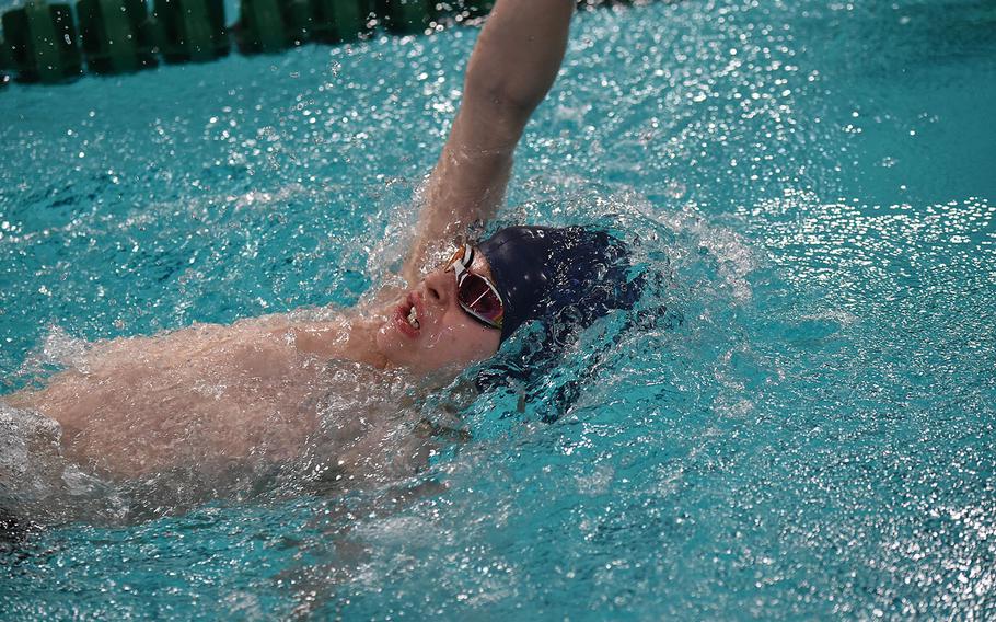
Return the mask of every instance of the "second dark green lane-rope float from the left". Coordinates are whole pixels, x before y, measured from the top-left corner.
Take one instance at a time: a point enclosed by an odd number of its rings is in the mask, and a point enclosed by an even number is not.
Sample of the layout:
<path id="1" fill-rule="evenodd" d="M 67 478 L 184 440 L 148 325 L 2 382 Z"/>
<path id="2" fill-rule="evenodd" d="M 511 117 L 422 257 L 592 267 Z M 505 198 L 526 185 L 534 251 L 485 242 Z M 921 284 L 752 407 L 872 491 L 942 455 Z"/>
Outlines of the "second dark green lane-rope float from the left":
<path id="1" fill-rule="evenodd" d="M 79 0 L 77 16 L 91 71 L 117 73 L 157 65 L 152 23 L 143 0 Z"/>

